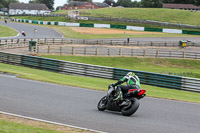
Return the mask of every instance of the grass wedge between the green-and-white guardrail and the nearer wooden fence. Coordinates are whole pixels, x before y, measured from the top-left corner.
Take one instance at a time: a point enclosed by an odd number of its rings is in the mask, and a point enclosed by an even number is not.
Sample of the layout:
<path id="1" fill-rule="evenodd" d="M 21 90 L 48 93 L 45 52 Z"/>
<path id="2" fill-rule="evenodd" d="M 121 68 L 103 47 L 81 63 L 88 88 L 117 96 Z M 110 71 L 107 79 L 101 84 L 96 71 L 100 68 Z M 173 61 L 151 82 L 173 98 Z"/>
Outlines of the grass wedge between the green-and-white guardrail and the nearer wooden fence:
<path id="1" fill-rule="evenodd" d="M 62 55 L 43 55 L 43 57 L 115 68 L 200 78 L 199 60 L 137 57 L 87 57 Z"/>

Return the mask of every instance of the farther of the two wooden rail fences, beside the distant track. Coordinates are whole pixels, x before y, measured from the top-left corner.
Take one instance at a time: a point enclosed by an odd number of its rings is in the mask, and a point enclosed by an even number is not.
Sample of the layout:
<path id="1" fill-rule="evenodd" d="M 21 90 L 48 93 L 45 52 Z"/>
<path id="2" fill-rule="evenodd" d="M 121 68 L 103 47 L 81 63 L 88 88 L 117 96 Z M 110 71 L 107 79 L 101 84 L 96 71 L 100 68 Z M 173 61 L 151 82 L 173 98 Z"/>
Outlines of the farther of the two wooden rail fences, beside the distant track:
<path id="1" fill-rule="evenodd" d="M 127 41 L 127 40 L 87 40 L 67 38 L 22 38 L 22 39 L 0 39 L 0 48 L 20 47 L 28 45 L 29 41 L 36 41 L 38 44 L 88 44 L 88 45 L 119 45 L 119 46 L 156 46 L 156 47 L 179 47 L 179 42 L 170 41 Z M 188 42 L 188 46 L 200 47 L 200 44 Z"/>

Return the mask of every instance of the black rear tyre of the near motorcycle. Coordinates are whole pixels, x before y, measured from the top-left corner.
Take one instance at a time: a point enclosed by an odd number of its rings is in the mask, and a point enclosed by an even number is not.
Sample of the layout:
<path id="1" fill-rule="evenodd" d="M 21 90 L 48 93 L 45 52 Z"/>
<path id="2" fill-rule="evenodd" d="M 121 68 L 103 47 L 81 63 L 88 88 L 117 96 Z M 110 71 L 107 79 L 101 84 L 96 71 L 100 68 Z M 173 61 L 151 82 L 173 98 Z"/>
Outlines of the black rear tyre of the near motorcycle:
<path id="1" fill-rule="evenodd" d="M 139 105 L 140 105 L 139 100 L 134 98 L 131 100 L 131 102 L 132 103 L 131 103 L 130 107 L 128 107 L 128 108 L 126 108 L 126 106 L 122 107 L 122 109 L 121 109 L 122 115 L 130 116 L 137 111 L 137 109 L 139 108 Z"/>

